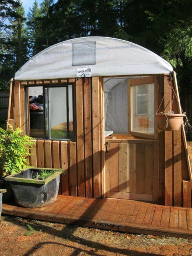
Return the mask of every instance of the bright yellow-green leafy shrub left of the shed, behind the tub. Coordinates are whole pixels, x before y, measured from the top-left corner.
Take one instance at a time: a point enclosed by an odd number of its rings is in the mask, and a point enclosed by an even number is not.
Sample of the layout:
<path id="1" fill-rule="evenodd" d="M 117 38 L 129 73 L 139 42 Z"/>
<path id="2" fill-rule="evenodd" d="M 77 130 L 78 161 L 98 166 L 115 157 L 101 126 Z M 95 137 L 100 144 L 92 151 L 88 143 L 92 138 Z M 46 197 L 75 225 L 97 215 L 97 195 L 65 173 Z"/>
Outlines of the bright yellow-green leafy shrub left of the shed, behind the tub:
<path id="1" fill-rule="evenodd" d="M 28 149 L 32 148 L 33 144 L 31 139 L 22 134 L 20 128 L 0 128 L 0 169 L 3 170 L 4 176 L 29 167 L 27 158 L 30 156 Z"/>

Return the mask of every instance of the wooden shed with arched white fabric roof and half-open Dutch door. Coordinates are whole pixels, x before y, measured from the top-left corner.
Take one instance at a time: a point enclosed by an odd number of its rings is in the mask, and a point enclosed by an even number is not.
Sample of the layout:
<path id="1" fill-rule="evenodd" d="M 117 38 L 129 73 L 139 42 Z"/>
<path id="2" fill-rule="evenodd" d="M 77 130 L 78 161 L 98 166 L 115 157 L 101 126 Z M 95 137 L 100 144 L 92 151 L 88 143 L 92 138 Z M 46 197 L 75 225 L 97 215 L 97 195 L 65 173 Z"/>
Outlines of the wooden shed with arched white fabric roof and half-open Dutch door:
<path id="1" fill-rule="evenodd" d="M 35 138 L 32 166 L 66 171 L 61 195 L 191 207 L 184 127 L 159 133 L 154 118 L 170 104 L 181 114 L 168 62 L 131 42 L 84 37 L 43 50 L 16 72 L 8 122 Z"/>

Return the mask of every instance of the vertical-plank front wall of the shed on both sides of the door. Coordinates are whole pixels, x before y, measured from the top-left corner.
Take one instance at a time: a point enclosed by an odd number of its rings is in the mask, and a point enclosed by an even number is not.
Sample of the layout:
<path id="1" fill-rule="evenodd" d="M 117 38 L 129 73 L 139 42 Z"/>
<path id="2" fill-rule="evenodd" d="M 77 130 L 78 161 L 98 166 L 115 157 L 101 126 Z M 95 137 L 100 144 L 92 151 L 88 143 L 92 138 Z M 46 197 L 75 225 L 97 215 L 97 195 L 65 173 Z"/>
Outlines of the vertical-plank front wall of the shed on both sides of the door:
<path id="1" fill-rule="evenodd" d="M 64 168 L 66 170 L 66 175 L 61 178 L 61 194 L 101 198 L 108 191 L 108 180 L 104 179 L 103 182 L 102 177 L 105 148 L 104 108 L 102 104 L 104 96 L 101 78 L 86 78 L 85 83 L 84 79 L 22 82 L 12 80 L 8 122 L 15 128 L 22 128 L 24 132 L 26 128 L 28 129 L 24 114 L 24 86 L 67 83 L 74 83 L 75 86 L 75 140 L 74 142 L 36 140 L 30 161 L 33 166 L 48 166 L 49 168 Z M 166 76 L 159 76 L 159 86 L 158 101 L 160 102 L 167 86 Z M 174 88 L 177 89 L 175 80 Z M 171 98 L 173 98 L 172 94 L 166 93 L 160 111 L 168 110 Z M 180 112 L 176 98 L 173 98 L 173 110 Z M 158 150 L 160 152 L 158 203 L 190 207 L 192 177 L 183 130 L 180 129 L 178 132 L 166 131 L 158 136 Z M 120 148 L 120 151 L 123 150 L 123 147 Z M 143 157 L 142 154 L 140 155 Z M 111 156 L 110 160 L 106 156 L 106 166 L 107 162 L 110 161 Z M 138 159 L 138 161 L 140 160 Z"/>

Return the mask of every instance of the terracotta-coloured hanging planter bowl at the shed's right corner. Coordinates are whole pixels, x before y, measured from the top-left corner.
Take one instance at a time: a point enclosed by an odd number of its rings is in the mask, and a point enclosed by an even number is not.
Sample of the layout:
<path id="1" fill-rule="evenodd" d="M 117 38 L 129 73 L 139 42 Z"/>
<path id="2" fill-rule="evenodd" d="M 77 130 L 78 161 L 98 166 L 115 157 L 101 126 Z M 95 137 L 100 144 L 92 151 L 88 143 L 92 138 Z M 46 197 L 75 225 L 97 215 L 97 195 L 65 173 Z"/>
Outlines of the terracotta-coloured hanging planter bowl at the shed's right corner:
<path id="1" fill-rule="evenodd" d="M 160 130 L 178 131 L 181 127 L 185 114 L 156 114 L 156 119 Z"/>

